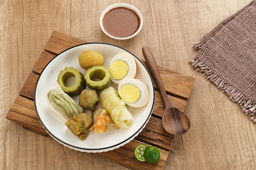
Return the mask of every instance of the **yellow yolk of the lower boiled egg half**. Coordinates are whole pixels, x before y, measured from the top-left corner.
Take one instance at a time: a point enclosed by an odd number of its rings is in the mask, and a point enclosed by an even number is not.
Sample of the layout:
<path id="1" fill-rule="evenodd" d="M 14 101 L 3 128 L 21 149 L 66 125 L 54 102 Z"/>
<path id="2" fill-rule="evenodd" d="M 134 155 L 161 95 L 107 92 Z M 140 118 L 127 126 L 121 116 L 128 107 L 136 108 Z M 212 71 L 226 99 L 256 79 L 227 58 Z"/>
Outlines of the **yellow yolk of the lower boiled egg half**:
<path id="1" fill-rule="evenodd" d="M 135 103 L 140 99 L 141 92 L 133 84 L 124 84 L 119 90 L 119 95 L 127 103 Z"/>

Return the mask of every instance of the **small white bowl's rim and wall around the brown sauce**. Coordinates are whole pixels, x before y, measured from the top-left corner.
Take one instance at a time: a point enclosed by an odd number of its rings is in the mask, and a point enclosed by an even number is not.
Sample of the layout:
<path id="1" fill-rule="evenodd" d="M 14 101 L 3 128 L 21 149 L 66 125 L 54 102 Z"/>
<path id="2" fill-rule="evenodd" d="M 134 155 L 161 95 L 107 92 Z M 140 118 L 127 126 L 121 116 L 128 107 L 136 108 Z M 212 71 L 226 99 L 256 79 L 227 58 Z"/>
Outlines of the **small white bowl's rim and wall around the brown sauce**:
<path id="1" fill-rule="evenodd" d="M 123 38 L 119 38 L 119 37 L 115 37 L 113 35 L 110 35 L 105 29 L 104 29 L 104 26 L 103 26 L 103 18 L 104 16 L 106 15 L 106 13 L 108 13 L 108 11 L 112 10 L 112 9 L 115 9 L 115 8 L 118 8 L 118 7 L 124 7 L 124 8 L 127 8 L 127 9 L 130 9 L 131 11 L 133 11 L 137 17 L 139 18 L 139 28 L 135 31 L 135 33 L 133 33 L 132 35 L 128 36 L 128 37 L 123 37 Z M 139 31 L 141 30 L 142 26 L 143 26 L 143 18 L 142 18 L 142 15 L 140 13 L 140 11 L 130 5 L 130 4 L 125 4 L 125 3 L 117 3 L 117 4 L 112 4 L 110 5 L 109 7 L 107 7 L 102 13 L 101 13 L 101 16 L 100 16 L 100 20 L 99 20 L 99 23 L 100 23 L 100 26 L 101 26 L 101 29 L 102 31 L 108 35 L 110 38 L 114 38 L 116 40 L 127 40 L 127 39 L 130 39 L 132 37 L 134 37 L 135 35 L 137 35 L 139 33 Z"/>

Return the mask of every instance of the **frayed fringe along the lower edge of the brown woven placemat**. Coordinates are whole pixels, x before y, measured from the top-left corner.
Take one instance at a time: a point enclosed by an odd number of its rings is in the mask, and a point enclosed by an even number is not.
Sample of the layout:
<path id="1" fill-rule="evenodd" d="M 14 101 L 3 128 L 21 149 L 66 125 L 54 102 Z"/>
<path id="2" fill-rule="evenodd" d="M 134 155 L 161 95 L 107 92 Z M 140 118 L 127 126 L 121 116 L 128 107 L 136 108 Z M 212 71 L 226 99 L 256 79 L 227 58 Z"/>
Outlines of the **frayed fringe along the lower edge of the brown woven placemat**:
<path id="1" fill-rule="evenodd" d="M 198 48 L 201 46 L 200 42 L 195 42 L 194 47 Z M 223 92 L 227 93 L 229 99 L 233 102 L 237 102 L 242 107 L 242 111 L 246 115 L 250 115 L 252 121 L 256 122 L 256 101 L 252 101 L 245 97 L 238 89 L 232 86 L 227 80 L 223 79 L 217 73 L 213 73 L 212 69 L 201 62 L 198 57 L 194 57 L 193 60 L 189 62 L 192 66 L 197 68 L 197 71 L 202 72 L 202 75 L 216 84 L 216 86 Z"/>

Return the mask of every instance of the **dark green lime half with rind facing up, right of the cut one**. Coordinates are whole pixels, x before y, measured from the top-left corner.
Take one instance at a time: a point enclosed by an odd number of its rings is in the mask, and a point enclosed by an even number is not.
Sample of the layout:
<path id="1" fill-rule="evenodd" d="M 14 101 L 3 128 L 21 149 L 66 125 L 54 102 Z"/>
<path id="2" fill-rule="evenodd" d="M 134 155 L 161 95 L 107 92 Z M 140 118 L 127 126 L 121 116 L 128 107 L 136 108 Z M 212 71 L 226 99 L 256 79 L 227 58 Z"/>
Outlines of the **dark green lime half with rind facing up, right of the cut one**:
<path id="1" fill-rule="evenodd" d="M 155 164 L 160 159 L 160 152 L 159 150 L 154 146 L 148 146 L 144 150 L 144 158 L 148 163 Z"/>

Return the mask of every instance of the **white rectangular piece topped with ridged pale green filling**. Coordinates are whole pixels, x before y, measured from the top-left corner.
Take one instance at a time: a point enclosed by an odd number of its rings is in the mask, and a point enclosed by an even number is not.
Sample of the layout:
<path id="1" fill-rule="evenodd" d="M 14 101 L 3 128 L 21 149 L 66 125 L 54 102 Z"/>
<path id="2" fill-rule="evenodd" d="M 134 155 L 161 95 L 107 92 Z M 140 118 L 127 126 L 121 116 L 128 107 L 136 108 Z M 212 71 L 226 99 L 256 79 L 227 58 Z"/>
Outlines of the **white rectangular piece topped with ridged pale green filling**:
<path id="1" fill-rule="evenodd" d="M 64 121 L 83 112 L 83 108 L 67 95 L 59 84 L 45 94 L 45 99 L 49 108 Z"/>

